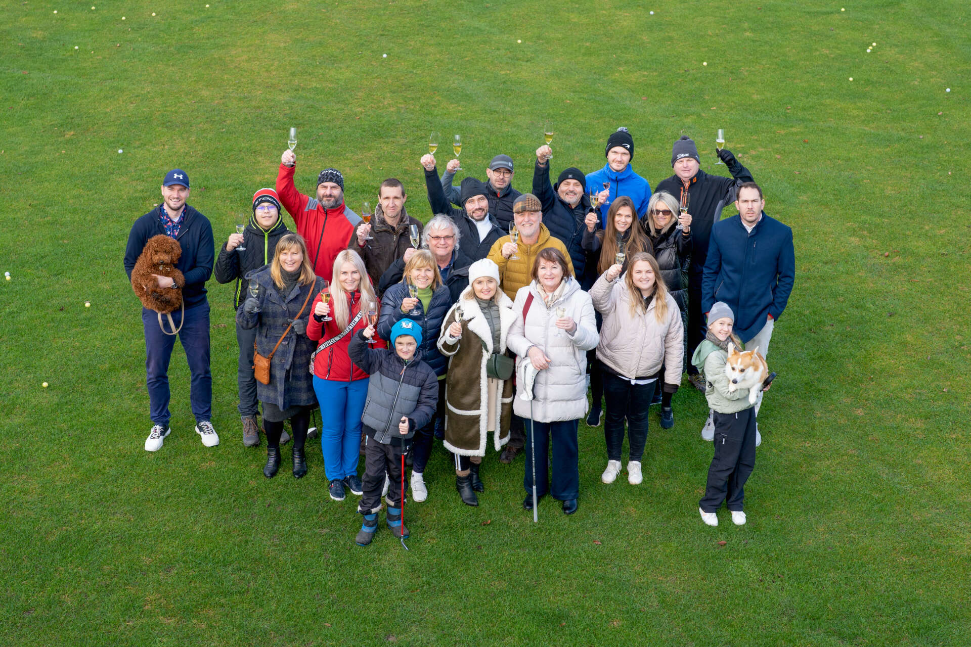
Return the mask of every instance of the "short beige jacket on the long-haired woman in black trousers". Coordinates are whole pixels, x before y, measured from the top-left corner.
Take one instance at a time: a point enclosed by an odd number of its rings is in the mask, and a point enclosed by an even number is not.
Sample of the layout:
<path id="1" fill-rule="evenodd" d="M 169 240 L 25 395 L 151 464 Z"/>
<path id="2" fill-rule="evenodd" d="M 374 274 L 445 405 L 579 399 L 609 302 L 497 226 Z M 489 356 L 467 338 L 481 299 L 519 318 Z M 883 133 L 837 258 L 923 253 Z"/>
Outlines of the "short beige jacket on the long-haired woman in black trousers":
<path id="1" fill-rule="evenodd" d="M 660 323 L 655 316 L 656 299 L 646 312 L 634 316 L 624 275 L 614 281 L 608 281 L 606 275 L 601 275 L 590 288 L 593 307 L 604 317 L 597 359 L 631 379 L 650 377 L 663 364 L 664 383 L 681 384 L 685 330 L 674 297 L 666 295 L 667 314 Z"/>

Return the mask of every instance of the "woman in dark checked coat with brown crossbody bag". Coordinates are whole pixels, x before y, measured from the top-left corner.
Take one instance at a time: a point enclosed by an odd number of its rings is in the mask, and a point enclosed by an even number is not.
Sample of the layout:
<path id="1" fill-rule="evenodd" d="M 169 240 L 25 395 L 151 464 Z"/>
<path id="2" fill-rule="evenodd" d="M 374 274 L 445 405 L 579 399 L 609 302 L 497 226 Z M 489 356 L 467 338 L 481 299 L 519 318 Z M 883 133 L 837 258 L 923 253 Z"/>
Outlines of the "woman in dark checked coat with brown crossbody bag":
<path id="1" fill-rule="evenodd" d="M 311 301 L 322 289 L 307 258 L 307 243 L 299 234 L 287 234 L 267 267 L 248 274 L 249 297 L 236 313 L 244 329 L 256 329 L 256 352 L 270 361 L 270 382 L 256 384 L 256 398 L 263 404 L 266 432 L 266 466 L 263 475 L 276 476 L 280 469 L 280 436 L 290 421 L 293 437 L 293 476 L 307 473 L 304 442 L 310 412 L 317 404 L 310 356 L 316 345 L 307 337 Z M 274 348 L 276 347 L 276 351 Z"/>

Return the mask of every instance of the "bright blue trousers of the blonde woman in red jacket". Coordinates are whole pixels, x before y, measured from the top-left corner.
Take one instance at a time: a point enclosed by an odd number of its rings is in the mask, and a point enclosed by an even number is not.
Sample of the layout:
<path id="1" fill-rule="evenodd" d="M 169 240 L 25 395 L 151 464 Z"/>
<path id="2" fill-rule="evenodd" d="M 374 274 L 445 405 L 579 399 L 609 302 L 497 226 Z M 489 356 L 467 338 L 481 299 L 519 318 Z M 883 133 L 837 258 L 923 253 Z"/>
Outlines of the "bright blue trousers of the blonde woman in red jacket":
<path id="1" fill-rule="evenodd" d="M 368 381 L 367 377 L 347 382 L 314 375 L 314 392 L 320 404 L 320 451 L 327 480 L 357 474 Z"/>

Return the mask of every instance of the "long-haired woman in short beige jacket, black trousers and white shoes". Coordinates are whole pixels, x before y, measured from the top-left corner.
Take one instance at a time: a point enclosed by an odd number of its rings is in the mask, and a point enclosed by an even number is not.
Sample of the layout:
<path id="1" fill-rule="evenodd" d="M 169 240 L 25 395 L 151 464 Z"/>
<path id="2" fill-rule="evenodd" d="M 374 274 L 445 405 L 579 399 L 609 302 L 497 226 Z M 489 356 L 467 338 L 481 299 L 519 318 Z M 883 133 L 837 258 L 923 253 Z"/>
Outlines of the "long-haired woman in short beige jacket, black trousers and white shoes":
<path id="1" fill-rule="evenodd" d="M 623 275 L 613 265 L 590 288 L 590 298 L 604 317 L 597 359 L 604 372 L 607 469 L 601 480 L 613 483 L 620 471 L 623 421 L 627 420 L 627 481 L 641 480 L 641 457 L 648 439 L 648 407 L 663 379 L 662 411 L 674 422 L 671 395 L 681 383 L 683 336 L 681 311 L 661 280 L 657 261 L 647 252 L 629 259 Z M 661 375 L 661 367 L 664 374 Z M 663 420 L 662 413 L 662 420 Z M 662 427 L 669 428 L 662 422 Z"/>

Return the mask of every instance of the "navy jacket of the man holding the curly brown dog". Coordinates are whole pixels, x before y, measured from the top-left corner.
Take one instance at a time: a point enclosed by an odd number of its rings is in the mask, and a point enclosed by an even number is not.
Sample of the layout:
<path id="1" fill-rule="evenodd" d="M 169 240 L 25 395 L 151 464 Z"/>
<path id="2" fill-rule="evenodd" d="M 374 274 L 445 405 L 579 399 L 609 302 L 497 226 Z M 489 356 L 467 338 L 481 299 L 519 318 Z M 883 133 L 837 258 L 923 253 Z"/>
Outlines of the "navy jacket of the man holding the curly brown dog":
<path id="1" fill-rule="evenodd" d="M 131 226 L 131 231 L 128 232 L 128 244 L 124 249 L 124 271 L 129 281 L 131 271 L 135 269 L 135 263 L 145 249 L 145 243 L 148 243 L 152 236 L 165 234 L 165 229 L 158 219 L 164 209 L 163 205 L 159 205 L 149 211 L 136 220 Z M 213 275 L 216 243 L 213 242 L 213 226 L 206 216 L 186 205 L 183 218 L 182 228 L 179 230 L 179 236 L 176 237 L 183 253 L 176 263 L 176 269 L 185 276 L 182 293 L 183 304 L 187 310 L 206 303 L 206 281 Z"/>

